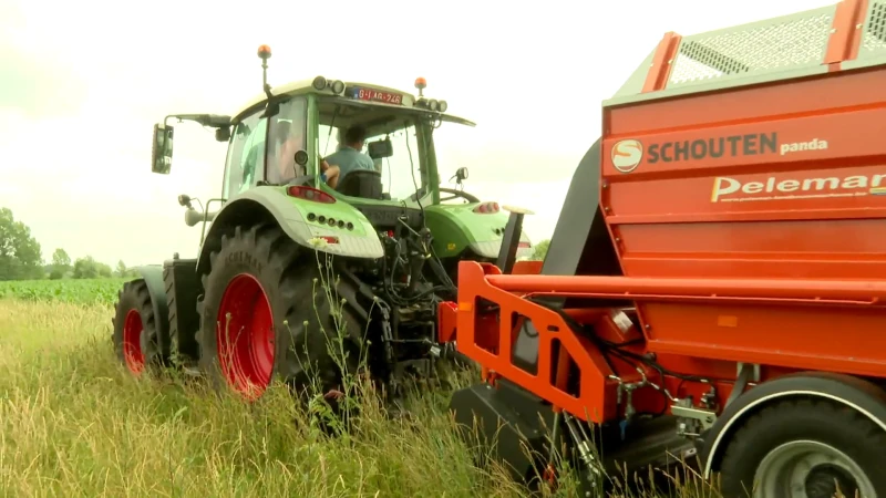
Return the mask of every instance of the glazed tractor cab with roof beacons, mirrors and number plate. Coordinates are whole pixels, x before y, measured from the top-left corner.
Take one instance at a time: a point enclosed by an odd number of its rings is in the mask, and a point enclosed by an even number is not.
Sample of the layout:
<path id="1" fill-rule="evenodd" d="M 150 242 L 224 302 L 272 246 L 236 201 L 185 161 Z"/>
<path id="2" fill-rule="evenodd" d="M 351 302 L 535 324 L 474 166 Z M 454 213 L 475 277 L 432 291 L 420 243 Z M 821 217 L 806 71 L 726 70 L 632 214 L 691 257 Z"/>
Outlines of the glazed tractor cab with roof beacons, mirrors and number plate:
<path id="1" fill-rule="evenodd" d="M 447 103 L 424 96 L 426 81 L 419 77 L 419 95 L 377 84 L 342 82 L 317 76 L 282 84 L 267 84 L 270 50 L 259 50 L 265 69 L 265 92 L 231 117 L 168 116 L 155 126 L 155 173 L 168 173 L 172 163 L 172 126 L 168 120 L 197 121 L 217 128 L 228 142 L 223 199 L 255 187 L 300 185 L 321 189 L 348 203 L 380 201 L 402 206 L 440 204 L 440 177 L 434 133 L 442 125 L 475 126 L 446 114 Z M 372 168 L 342 170 L 338 183 L 323 178 L 323 158 L 348 147 L 348 128 L 365 129 L 359 153 Z M 369 162 L 367 162 L 369 163 Z M 332 166 L 339 166 L 331 164 Z M 461 177 L 460 177 L 461 178 Z M 450 189 L 444 189 L 450 190 Z M 451 198 L 459 197 L 453 196 Z M 461 195 L 466 201 L 473 196 Z"/>

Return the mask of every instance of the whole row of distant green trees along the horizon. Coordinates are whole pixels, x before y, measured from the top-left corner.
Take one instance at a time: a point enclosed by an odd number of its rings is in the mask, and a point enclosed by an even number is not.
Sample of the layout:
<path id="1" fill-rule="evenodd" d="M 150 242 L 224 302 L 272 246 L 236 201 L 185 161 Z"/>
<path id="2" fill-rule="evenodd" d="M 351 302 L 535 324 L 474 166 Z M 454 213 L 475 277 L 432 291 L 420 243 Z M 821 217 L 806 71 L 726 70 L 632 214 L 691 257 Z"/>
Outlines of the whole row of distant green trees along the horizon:
<path id="1" fill-rule="evenodd" d="M 62 248 L 55 249 L 51 261 L 47 263 L 40 242 L 31 235 L 31 229 L 16 220 L 11 209 L 0 208 L 0 281 L 101 279 L 135 274 L 135 270 L 126 268 L 123 261 L 119 261 L 114 270 L 92 256 L 71 261 Z"/>

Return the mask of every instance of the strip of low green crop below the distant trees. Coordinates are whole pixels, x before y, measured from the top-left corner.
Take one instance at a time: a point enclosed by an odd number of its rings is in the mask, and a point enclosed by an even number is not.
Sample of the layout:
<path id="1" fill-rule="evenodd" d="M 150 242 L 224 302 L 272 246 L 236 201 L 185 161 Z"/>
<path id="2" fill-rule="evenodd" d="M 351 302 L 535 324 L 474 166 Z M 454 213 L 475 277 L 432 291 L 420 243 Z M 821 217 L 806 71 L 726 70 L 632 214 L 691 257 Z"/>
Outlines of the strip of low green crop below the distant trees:
<path id="1" fill-rule="evenodd" d="M 126 279 L 24 280 L 0 282 L 0 299 L 16 298 L 37 302 L 113 304 Z"/>

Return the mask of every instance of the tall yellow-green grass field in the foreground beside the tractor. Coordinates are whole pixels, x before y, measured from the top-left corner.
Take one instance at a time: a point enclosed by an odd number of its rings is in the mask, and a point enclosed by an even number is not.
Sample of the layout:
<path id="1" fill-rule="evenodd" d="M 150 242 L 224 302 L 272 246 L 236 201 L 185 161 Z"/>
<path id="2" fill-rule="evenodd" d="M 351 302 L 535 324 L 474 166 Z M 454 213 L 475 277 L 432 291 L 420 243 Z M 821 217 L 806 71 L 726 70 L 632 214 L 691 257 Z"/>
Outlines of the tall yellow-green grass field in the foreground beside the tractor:
<path id="1" fill-rule="evenodd" d="M 526 496 L 473 465 L 445 392 L 413 398 L 411 421 L 363 402 L 351 435 L 330 439 L 279 388 L 247 405 L 132 378 L 110 341 L 117 284 L 0 287 L 0 496 Z M 99 299 L 76 297 L 90 289 Z M 555 496 L 576 496 L 573 484 L 567 473 Z M 714 496 L 697 487 L 678 496 Z"/>

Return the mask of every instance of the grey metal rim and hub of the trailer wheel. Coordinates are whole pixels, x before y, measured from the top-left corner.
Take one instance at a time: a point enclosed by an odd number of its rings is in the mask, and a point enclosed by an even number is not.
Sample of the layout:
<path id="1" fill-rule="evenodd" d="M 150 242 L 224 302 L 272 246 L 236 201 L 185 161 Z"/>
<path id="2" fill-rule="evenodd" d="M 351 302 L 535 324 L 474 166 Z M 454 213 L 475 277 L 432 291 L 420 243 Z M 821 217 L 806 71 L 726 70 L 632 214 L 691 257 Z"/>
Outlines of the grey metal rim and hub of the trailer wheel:
<path id="1" fill-rule="evenodd" d="M 766 455 L 756 470 L 758 497 L 876 498 L 870 478 L 846 454 L 813 440 L 785 443 Z M 858 495 L 856 495 L 858 494 Z"/>

